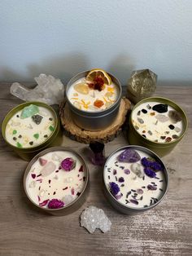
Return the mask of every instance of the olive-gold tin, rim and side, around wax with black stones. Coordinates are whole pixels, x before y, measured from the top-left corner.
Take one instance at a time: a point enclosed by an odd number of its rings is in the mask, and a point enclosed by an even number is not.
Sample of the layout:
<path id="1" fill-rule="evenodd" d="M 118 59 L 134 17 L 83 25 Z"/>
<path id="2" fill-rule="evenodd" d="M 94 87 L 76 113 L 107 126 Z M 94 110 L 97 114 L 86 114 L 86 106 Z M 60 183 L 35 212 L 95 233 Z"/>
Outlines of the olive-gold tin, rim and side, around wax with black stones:
<path id="1" fill-rule="evenodd" d="M 159 102 L 162 104 L 168 104 L 169 106 L 171 106 L 172 108 L 177 110 L 178 113 L 181 114 L 182 121 L 183 121 L 183 130 L 182 130 L 181 135 L 177 139 L 174 139 L 174 140 L 172 140 L 170 142 L 166 142 L 166 143 L 160 143 L 160 142 L 151 141 L 150 139 L 146 139 L 145 137 L 143 137 L 141 134 L 138 133 L 138 131 L 133 126 L 133 121 L 132 121 L 133 112 L 139 105 L 141 105 L 143 103 L 147 103 L 147 102 L 149 102 L 149 103 L 150 102 Z M 187 127 L 188 127 L 188 120 L 187 120 L 186 114 L 185 114 L 184 110 L 179 105 L 177 105 L 172 100 L 164 98 L 164 97 L 149 97 L 149 98 L 142 99 L 141 101 L 139 101 L 132 109 L 132 112 L 129 116 L 129 132 L 128 132 L 129 143 L 130 144 L 138 144 L 138 145 L 144 146 L 146 148 L 149 148 L 152 151 L 156 152 L 160 157 L 163 157 L 166 154 L 168 154 L 169 152 L 171 152 L 172 149 L 176 146 L 176 144 L 184 137 Z"/>

